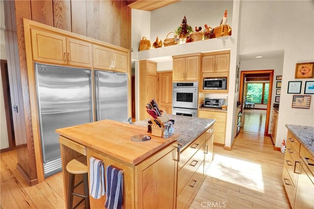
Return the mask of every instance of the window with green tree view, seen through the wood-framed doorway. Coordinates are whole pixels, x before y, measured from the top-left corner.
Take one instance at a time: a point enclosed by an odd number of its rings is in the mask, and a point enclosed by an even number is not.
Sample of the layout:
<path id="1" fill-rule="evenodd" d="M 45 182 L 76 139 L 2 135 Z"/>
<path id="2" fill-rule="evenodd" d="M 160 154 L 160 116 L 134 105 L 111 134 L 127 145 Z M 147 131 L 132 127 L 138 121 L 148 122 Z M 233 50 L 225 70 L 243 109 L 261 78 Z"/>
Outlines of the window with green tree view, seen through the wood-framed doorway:
<path id="1" fill-rule="evenodd" d="M 250 102 L 255 104 L 267 104 L 269 93 L 269 83 L 248 83 L 246 95 L 250 97 Z"/>

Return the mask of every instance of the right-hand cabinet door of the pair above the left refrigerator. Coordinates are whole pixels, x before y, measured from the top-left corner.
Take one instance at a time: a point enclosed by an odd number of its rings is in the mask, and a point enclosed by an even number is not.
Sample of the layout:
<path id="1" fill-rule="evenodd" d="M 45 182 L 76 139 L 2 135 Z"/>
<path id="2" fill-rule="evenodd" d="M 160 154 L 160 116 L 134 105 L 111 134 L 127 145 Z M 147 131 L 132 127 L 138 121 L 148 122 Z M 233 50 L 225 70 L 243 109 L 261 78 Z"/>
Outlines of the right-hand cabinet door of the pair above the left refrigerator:
<path id="1" fill-rule="evenodd" d="M 67 38 L 68 64 L 79 67 L 92 67 L 92 45 L 87 42 Z"/>

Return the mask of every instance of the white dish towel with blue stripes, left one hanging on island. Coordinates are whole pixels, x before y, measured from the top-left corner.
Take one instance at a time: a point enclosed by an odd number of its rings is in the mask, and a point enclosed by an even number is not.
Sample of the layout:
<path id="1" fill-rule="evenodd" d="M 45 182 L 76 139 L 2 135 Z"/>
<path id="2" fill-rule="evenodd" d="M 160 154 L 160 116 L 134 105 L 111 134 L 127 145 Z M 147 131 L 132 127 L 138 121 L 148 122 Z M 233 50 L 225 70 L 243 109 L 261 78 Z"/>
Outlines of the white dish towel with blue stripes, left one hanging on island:
<path id="1" fill-rule="evenodd" d="M 89 187 L 90 195 L 99 199 L 105 195 L 105 165 L 101 160 L 89 158 Z"/>

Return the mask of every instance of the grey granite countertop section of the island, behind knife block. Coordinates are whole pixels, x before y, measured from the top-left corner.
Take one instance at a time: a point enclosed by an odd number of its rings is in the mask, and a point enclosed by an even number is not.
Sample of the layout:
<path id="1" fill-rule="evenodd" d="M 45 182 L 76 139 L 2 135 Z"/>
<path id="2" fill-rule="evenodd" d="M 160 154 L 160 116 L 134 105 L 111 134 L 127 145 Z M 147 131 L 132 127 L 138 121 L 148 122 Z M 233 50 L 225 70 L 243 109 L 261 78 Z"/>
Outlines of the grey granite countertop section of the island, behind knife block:
<path id="1" fill-rule="evenodd" d="M 209 128 L 216 120 L 206 119 L 200 117 L 189 117 L 189 116 L 176 116 L 168 115 L 170 119 L 175 120 L 175 134 L 181 134 L 177 138 L 179 147 L 183 150 L 187 147 L 194 139 L 198 138 L 206 129 Z M 137 126 L 146 126 L 148 125 L 147 120 L 141 120 L 134 122 L 134 125 Z"/>

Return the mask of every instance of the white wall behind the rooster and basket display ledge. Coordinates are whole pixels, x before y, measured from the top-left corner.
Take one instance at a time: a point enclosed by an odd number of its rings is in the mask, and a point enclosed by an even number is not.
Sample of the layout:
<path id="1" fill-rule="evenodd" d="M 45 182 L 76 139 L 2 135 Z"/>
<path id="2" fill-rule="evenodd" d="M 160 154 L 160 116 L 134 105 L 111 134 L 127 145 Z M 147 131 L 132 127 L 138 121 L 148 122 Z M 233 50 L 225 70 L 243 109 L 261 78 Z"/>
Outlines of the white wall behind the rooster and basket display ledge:
<path id="1" fill-rule="evenodd" d="M 228 10 L 228 23 L 232 26 L 233 1 L 223 0 L 181 0 L 151 12 L 151 41 L 158 36 L 162 42 L 167 34 L 177 29 L 185 15 L 187 24 L 194 29 L 207 24 L 210 27 L 219 25 L 225 10 Z M 170 34 L 171 35 L 171 34 Z M 169 37 L 173 37 L 172 36 Z M 168 38 L 169 38 L 168 37 Z"/>

